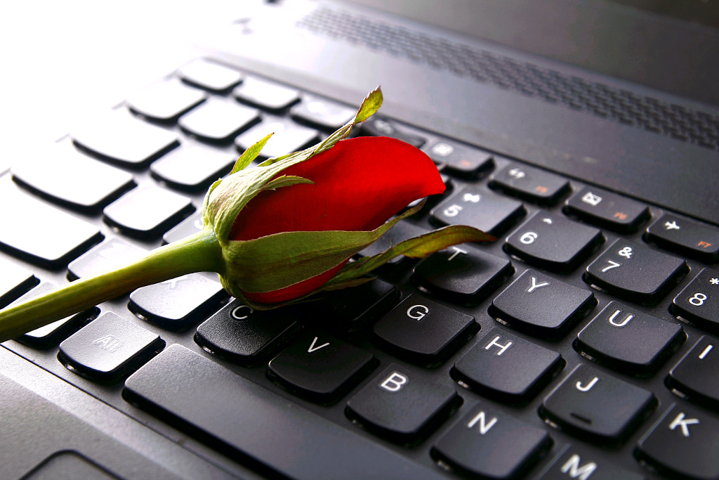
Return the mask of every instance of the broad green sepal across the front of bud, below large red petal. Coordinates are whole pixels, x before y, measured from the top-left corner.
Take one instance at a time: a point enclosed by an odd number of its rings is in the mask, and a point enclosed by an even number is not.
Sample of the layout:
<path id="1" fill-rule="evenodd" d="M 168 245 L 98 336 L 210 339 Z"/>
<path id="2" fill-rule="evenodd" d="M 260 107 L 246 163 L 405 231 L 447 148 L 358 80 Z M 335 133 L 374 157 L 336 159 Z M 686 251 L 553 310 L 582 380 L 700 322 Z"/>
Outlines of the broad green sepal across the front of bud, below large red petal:
<path id="1" fill-rule="evenodd" d="M 232 296 L 242 291 L 283 289 L 324 273 L 364 250 L 422 204 L 375 230 L 281 232 L 254 240 L 231 240 L 222 253 L 222 285 Z"/>

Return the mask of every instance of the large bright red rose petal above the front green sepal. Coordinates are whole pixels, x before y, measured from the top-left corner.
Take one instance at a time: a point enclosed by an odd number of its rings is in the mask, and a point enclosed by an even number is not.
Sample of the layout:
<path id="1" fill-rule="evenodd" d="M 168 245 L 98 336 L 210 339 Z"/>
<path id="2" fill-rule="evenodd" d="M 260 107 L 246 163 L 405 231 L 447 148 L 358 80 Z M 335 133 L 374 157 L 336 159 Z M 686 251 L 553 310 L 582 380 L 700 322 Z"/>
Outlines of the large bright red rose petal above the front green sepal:
<path id="1" fill-rule="evenodd" d="M 257 195 L 235 219 L 230 238 L 252 240 L 301 230 L 374 230 L 411 201 L 444 191 L 427 155 L 388 137 L 342 140 L 283 173 L 315 184 Z"/>

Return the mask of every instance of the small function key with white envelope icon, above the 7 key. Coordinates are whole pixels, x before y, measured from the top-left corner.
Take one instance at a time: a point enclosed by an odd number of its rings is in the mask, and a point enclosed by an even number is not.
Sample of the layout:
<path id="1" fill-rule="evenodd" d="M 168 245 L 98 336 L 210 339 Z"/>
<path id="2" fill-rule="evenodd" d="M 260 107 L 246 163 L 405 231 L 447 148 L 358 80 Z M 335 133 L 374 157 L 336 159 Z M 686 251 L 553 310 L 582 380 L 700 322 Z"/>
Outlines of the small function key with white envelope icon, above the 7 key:
<path id="1" fill-rule="evenodd" d="M 567 200 L 564 212 L 620 233 L 636 232 L 649 218 L 645 204 L 593 187 L 585 187 Z"/>

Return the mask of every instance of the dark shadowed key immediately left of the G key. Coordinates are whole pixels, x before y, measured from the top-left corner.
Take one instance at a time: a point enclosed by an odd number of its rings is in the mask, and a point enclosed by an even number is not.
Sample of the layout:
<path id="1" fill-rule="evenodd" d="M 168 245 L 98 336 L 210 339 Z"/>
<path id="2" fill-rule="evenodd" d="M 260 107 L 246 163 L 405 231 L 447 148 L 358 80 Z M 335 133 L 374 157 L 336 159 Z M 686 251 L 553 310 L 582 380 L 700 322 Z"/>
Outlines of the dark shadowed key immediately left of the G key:
<path id="1" fill-rule="evenodd" d="M 400 291 L 392 284 L 374 279 L 351 289 L 324 291 L 315 302 L 293 309 L 303 320 L 319 322 L 323 327 L 354 333 L 374 322 L 397 304 Z"/>

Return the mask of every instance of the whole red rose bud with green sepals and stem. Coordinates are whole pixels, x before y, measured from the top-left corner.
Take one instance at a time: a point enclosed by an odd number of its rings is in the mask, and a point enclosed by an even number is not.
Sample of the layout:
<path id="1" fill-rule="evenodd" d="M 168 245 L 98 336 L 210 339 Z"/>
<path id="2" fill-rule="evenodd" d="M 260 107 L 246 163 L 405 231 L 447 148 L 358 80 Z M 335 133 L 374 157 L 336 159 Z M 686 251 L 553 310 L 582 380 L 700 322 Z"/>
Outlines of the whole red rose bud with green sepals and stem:
<path id="1" fill-rule="evenodd" d="M 372 91 L 354 119 L 326 140 L 247 168 L 268 135 L 210 187 L 203 230 L 127 266 L 1 310 L 0 341 L 188 273 L 214 271 L 232 296 L 267 309 L 367 281 L 366 273 L 398 255 L 418 258 L 457 243 L 492 240 L 473 227 L 455 225 L 349 262 L 421 208 L 392 218 L 412 201 L 444 191 L 439 171 L 421 150 L 385 137 L 347 140 L 354 124 L 381 103 L 380 90 Z"/>

